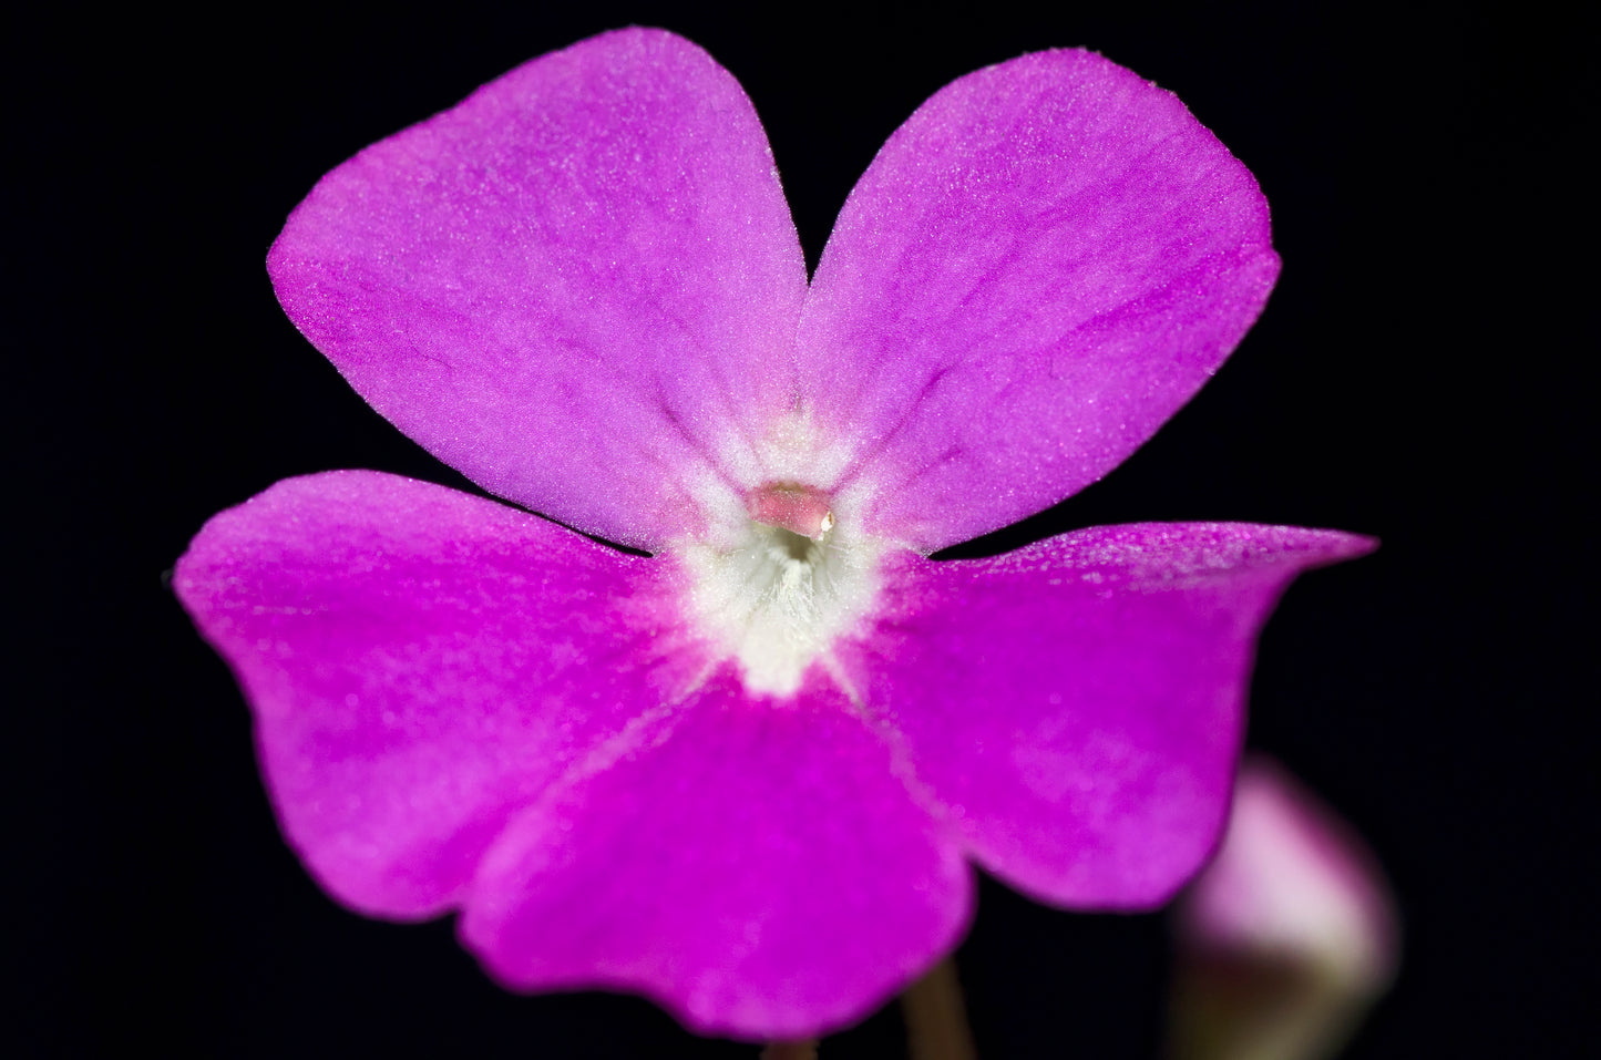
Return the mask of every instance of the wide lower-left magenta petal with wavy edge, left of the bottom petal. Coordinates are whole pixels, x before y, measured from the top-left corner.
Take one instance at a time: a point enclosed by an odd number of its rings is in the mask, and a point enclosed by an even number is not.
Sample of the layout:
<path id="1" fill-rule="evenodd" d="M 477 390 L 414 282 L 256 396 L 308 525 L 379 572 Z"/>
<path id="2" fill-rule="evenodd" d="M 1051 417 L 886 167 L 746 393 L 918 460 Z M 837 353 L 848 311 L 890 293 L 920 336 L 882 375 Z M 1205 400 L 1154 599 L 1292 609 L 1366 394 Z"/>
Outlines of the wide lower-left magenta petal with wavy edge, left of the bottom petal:
<path id="1" fill-rule="evenodd" d="M 418 917 L 456 903 L 514 810 L 695 681 L 671 576 L 504 504 L 336 471 L 211 519 L 173 588 L 243 685 L 312 874 Z"/>

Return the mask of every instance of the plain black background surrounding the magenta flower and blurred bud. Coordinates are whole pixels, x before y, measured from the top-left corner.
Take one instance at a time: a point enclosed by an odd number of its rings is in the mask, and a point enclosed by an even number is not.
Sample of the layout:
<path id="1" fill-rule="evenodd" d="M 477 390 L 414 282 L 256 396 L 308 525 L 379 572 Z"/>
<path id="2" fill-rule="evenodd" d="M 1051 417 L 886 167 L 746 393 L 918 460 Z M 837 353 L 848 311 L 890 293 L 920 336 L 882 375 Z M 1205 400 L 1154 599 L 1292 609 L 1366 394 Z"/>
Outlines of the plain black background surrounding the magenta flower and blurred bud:
<path id="1" fill-rule="evenodd" d="M 493 988 L 448 921 L 327 900 L 247 711 L 162 573 L 277 479 L 471 488 L 279 311 L 263 258 L 362 146 L 602 29 L 706 46 L 762 115 L 809 261 L 884 138 L 978 66 L 1085 45 L 1175 90 L 1257 175 L 1284 275 L 1212 384 L 1105 482 L 997 535 L 1238 519 L 1374 533 L 1263 639 L 1249 740 L 1369 837 L 1402 974 L 1353 1057 L 1595 1046 L 1593 223 L 1579 26 L 1534 10 L 999 3 L 8 16 L 3 331 L 11 1055 L 751 1057 L 648 1004 Z M 1587 679 L 1580 682 L 1580 668 Z M 959 953 L 986 1057 L 1153 1057 L 1161 916 L 985 882 Z M 897 1055 L 893 1007 L 825 1060 Z"/>

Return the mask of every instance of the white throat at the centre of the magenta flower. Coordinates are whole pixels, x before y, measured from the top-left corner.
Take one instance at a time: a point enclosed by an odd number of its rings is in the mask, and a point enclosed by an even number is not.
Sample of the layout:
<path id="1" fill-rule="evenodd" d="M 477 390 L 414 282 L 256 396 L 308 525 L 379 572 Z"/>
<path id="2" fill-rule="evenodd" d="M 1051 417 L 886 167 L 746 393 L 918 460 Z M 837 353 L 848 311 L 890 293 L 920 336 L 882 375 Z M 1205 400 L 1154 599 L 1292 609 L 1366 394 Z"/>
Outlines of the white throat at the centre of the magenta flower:
<path id="1" fill-rule="evenodd" d="M 850 695 L 829 647 L 866 620 L 882 548 L 820 490 L 778 482 L 744 500 L 728 540 L 684 552 L 696 616 L 751 693 L 791 697 L 818 663 Z"/>

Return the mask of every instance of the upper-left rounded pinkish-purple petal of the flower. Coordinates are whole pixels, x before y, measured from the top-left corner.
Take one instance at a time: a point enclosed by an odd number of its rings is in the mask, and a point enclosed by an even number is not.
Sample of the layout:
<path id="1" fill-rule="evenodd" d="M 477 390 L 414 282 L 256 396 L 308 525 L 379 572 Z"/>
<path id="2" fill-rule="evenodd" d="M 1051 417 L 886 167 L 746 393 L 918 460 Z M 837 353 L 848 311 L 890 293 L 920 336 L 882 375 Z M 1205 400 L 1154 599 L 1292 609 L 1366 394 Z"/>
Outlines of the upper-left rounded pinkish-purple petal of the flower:
<path id="1" fill-rule="evenodd" d="M 551 53 L 368 147 L 267 269 L 373 408 L 613 541 L 743 511 L 749 484 L 708 455 L 792 400 L 805 263 L 767 138 L 733 77 L 661 30 Z"/>

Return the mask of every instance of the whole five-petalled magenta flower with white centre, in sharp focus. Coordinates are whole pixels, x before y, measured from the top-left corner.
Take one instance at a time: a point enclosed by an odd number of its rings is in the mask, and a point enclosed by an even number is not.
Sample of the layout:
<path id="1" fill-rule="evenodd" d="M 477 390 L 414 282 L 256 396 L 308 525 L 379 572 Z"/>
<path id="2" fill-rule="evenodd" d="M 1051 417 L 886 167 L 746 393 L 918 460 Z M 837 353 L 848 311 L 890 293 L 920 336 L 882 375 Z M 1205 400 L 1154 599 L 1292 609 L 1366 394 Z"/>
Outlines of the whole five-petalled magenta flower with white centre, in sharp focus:
<path id="1" fill-rule="evenodd" d="M 1250 173 L 1090 53 L 937 93 L 810 285 L 749 101 L 642 29 L 363 151 L 267 264 L 395 426 L 650 552 L 343 471 L 178 565 L 309 869 L 459 909 L 512 988 L 807 1036 L 957 943 L 970 863 L 1164 901 L 1217 841 L 1273 600 L 1370 548 L 1142 524 L 925 559 L 1114 468 L 1278 275 Z"/>

